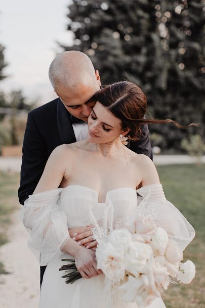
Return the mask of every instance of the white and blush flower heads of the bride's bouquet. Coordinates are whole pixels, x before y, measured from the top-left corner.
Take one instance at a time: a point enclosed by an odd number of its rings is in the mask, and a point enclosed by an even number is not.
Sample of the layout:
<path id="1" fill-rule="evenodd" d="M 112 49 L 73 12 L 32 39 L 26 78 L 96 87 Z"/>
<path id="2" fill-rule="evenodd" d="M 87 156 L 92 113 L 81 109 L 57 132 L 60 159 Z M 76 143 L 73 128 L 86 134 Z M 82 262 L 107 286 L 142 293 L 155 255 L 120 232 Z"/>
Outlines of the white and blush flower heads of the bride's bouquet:
<path id="1" fill-rule="evenodd" d="M 96 260 L 105 275 L 109 301 L 120 296 L 145 307 L 168 289 L 171 277 L 185 284 L 192 281 L 195 265 L 190 260 L 181 263 L 182 250 L 151 217 L 135 214 L 113 229 L 112 214 L 110 202 L 102 227 L 91 212 Z"/>

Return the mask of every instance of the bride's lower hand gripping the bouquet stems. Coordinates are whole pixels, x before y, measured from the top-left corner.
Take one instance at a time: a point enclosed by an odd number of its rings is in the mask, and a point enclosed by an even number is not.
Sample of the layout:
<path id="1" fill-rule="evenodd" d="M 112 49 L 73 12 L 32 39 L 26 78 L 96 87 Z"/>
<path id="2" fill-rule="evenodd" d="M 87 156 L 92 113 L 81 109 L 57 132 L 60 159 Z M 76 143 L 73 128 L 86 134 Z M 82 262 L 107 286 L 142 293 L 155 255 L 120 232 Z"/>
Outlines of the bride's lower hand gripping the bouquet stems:
<path id="1" fill-rule="evenodd" d="M 101 269 L 97 269 L 95 252 L 91 249 L 78 250 L 75 255 L 75 265 L 83 278 L 91 278 L 102 273 Z"/>

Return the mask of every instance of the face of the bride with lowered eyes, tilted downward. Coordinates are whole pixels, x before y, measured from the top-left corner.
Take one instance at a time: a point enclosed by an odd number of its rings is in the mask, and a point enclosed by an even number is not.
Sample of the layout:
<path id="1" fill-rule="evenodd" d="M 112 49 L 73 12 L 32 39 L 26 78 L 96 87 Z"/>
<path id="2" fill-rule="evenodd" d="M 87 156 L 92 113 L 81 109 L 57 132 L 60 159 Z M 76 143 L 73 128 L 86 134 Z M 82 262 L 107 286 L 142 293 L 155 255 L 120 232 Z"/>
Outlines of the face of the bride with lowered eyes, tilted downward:
<path id="1" fill-rule="evenodd" d="M 93 143 L 109 143 L 116 140 L 120 133 L 121 120 L 97 101 L 88 118 L 88 140 Z"/>

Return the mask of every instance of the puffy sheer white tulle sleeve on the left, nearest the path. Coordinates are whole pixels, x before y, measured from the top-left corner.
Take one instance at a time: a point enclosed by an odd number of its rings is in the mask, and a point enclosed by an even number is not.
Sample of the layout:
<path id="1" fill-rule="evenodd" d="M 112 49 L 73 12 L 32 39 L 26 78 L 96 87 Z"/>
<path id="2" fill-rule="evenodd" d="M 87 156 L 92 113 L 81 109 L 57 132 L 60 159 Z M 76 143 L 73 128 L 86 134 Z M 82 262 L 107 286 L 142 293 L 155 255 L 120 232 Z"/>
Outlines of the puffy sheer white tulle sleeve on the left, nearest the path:
<path id="1" fill-rule="evenodd" d="M 57 254 L 69 237 L 67 217 L 59 208 L 62 188 L 30 195 L 20 212 L 20 219 L 30 233 L 28 247 L 41 266 Z"/>

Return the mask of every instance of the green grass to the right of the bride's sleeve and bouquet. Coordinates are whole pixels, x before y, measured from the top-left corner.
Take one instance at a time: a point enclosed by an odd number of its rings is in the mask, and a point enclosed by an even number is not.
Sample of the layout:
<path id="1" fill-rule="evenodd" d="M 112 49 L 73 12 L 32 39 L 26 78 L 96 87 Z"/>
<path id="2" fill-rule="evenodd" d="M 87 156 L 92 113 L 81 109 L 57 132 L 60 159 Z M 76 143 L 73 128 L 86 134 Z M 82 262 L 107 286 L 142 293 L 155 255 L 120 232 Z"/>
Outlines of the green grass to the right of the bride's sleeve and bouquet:
<path id="1" fill-rule="evenodd" d="M 157 167 L 166 197 L 195 228 L 196 236 L 184 252 L 184 261 L 196 265 L 191 284 L 172 284 L 163 293 L 167 308 L 205 307 L 205 165 L 169 165 Z"/>

